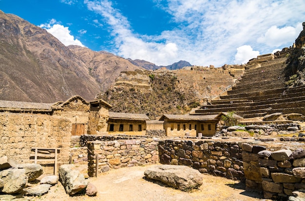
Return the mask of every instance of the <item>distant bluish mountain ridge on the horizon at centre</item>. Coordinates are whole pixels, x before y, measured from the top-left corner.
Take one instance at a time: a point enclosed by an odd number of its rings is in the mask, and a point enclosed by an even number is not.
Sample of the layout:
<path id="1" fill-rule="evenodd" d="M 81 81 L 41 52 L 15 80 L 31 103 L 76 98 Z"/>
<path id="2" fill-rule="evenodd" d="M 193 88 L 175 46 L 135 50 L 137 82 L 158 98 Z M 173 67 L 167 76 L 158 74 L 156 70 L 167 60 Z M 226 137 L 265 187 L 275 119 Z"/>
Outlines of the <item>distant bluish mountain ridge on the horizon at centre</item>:
<path id="1" fill-rule="evenodd" d="M 168 66 L 156 66 L 155 64 L 153 64 L 151 62 L 148 62 L 145 60 L 140 60 L 140 59 L 133 60 L 131 58 L 128 58 L 127 60 L 130 61 L 133 65 L 143 67 L 144 69 L 150 70 L 150 71 L 164 68 L 164 67 L 168 70 L 177 70 L 177 69 L 182 69 L 183 67 L 186 67 L 186 66 L 192 66 L 189 62 L 182 61 L 182 60 L 180 60 L 176 63 L 173 63 L 172 65 L 168 65 Z"/>

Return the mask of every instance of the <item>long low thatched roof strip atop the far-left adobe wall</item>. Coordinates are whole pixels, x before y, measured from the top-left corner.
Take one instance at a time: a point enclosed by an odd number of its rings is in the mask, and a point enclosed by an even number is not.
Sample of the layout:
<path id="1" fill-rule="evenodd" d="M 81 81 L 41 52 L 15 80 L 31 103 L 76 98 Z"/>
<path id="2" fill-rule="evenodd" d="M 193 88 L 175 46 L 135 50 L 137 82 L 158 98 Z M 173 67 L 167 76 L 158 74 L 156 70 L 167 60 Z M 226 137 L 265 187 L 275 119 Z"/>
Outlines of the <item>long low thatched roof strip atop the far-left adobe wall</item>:
<path id="1" fill-rule="evenodd" d="M 41 110 L 52 111 L 54 103 L 31 103 L 21 101 L 4 101 L 0 100 L 1 110 Z"/>

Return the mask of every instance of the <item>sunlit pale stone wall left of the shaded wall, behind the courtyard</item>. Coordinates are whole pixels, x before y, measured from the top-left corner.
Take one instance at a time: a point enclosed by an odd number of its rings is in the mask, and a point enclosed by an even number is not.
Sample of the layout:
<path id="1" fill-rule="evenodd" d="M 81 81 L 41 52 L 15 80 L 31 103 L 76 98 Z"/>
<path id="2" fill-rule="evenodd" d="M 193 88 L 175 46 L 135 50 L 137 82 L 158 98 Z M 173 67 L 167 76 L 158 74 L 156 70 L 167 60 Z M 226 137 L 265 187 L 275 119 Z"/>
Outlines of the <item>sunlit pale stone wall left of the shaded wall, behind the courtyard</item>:
<path id="1" fill-rule="evenodd" d="M 88 175 L 95 176 L 96 154 L 98 172 L 159 161 L 157 138 L 88 142 Z"/>

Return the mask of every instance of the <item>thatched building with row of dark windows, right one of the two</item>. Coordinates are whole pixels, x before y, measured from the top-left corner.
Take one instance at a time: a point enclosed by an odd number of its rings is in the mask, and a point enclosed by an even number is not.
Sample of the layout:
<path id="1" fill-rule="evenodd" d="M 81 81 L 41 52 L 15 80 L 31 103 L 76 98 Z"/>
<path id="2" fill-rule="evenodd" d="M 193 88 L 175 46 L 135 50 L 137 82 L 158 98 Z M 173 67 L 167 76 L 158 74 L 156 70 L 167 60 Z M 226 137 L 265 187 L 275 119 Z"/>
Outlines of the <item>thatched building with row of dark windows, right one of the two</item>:
<path id="1" fill-rule="evenodd" d="M 174 115 L 164 114 L 160 120 L 164 121 L 164 129 L 167 136 L 185 136 L 189 134 L 192 137 L 212 136 L 216 132 L 216 124 L 219 122 L 221 114 L 218 115 Z"/>

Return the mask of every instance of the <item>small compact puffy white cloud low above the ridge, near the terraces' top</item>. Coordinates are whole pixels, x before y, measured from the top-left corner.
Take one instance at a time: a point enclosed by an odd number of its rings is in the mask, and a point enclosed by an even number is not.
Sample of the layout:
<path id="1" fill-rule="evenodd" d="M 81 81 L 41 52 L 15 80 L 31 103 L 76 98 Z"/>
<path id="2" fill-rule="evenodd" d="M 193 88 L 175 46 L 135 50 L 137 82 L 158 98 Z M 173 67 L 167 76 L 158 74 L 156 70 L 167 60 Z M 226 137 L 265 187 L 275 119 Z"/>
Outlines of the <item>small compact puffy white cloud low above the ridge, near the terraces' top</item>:
<path id="1" fill-rule="evenodd" d="M 256 58 L 258 55 L 260 55 L 259 51 L 254 51 L 251 46 L 249 45 L 243 45 L 238 47 L 237 53 L 235 55 L 235 64 L 245 64 L 248 63 L 248 61 L 252 58 Z"/>

